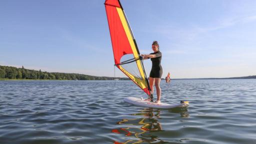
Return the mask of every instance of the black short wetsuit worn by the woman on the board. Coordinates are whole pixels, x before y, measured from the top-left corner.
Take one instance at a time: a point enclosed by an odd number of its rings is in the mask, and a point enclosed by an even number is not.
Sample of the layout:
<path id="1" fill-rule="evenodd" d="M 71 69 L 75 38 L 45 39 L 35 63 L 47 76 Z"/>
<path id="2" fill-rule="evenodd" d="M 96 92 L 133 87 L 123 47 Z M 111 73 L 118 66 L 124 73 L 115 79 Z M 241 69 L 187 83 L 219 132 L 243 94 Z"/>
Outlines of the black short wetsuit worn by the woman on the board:
<path id="1" fill-rule="evenodd" d="M 156 52 L 153 52 L 150 54 L 155 54 L 155 57 L 151 58 L 152 68 L 151 68 L 149 77 L 161 78 L 161 76 L 162 76 L 162 66 L 161 66 L 162 53 L 160 51 L 156 51 Z"/>

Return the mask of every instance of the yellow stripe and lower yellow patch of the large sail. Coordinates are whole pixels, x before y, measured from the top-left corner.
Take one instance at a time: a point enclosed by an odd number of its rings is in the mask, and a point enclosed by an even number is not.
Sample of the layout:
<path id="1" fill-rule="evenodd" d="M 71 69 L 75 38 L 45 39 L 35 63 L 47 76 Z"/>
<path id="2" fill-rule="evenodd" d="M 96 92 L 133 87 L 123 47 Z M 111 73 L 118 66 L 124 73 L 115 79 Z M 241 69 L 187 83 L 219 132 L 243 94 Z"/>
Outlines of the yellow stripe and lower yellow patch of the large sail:
<path id="1" fill-rule="evenodd" d="M 126 36 L 128 38 L 128 41 L 129 41 L 129 44 L 131 46 L 131 49 L 132 49 L 132 52 L 133 52 L 133 55 L 134 55 L 134 58 L 138 58 L 139 55 L 138 55 L 138 52 L 136 50 L 136 47 L 135 47 L 135 43 L 132 39 L 132 35 L 131 35 L 131 31 L 129 30 L 129 27 L 128 27 L 128 23 L 124 17 L 124 14 L 122 12 L 122 9 L 119 8 L 119 7 L 116 7 L 116 10 L 118 12 L 118 15 L 120 17 L 120 20 L 121 20 L 121 23 L 122 23 L 122 26 L 124 28 L 124 31 L 126 33 Z M 136 64 L 137 64 L 137 67 L 138 67 L 138 70 L 142 76 L 142 79 L 138 79 L 136 78 L 135 76 L 131 75 L 129 72 L 127 72 L 125 69 L 122 68 L 122 66 L 120 65 L 120 70 L 122 70 L 127 76 L 129 76 L 133 81 L 135 81 L 139 86 L 141 86 L 141 88 L 145 88 L 146 87 L 146 83 L 145 83 L 145 75 L 144 75 L 144 72 L 143 72 L 143 69 L 142 69 L 142 65 L 140 63 L 140 60 L 136 60 Z"/>

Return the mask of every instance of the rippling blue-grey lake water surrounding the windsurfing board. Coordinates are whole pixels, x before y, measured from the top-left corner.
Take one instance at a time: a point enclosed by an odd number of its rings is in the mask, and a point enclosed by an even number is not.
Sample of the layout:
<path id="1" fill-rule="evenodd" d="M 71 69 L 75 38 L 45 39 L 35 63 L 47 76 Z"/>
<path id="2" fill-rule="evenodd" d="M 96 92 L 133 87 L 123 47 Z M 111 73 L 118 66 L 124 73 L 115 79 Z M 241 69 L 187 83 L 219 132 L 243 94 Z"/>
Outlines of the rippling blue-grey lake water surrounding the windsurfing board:
<path id="1" fill-rule="evenodd" d="M 256 143 L 256 79 L 161 81 L 162 102 L 130 80 L 0 81 L 0 143 Z M 155 96 L 156 97 L 156 96 Z"/>

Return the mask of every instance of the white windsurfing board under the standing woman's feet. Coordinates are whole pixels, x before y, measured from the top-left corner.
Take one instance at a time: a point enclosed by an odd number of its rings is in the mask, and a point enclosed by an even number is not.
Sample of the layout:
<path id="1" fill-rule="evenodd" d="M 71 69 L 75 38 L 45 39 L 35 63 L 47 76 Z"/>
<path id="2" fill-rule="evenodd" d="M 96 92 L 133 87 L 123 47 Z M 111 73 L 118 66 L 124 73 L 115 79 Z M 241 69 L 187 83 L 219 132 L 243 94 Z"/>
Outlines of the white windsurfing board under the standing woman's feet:
<path id="1" fill-rule="evenodd" d="M 137 97 L 125 97 L 123 99 L 125 102 L 137 105 L 137 106 L 142 106 L 142 107 L 152 107 L 152 108 L 161 108 L 161 109 L 169 109 L 169 108 L 175 108 L 175 107 L 187 107 L 189 105 L 188 101 L 183 101 L 183 103 L 177 103 L 177 104 L 168 104 L 161 102 L 160 104 L 150 102 L 150 101 L 145 101 L 142 98 L 137 98 Z"/>

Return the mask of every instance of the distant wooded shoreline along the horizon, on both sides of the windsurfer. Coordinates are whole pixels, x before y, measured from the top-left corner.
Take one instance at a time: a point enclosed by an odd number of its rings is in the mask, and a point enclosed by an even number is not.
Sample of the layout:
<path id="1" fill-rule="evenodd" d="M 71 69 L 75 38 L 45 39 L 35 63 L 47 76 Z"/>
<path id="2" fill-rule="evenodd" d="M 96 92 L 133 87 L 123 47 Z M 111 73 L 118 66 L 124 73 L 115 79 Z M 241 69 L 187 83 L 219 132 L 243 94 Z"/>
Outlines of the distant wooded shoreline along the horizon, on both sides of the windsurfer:
<path id="1" fill-rule="evenodd" d="M 256 75 L 223 78 L 171 78 L 179 79 L 253 79 Z M 164 78 L 161 78 L 165 80 Z M 129 80 L 128 77 L 93 76 L 78 73 L 47 72 L 0 65 L 0 80 Z"/>

